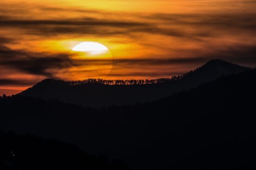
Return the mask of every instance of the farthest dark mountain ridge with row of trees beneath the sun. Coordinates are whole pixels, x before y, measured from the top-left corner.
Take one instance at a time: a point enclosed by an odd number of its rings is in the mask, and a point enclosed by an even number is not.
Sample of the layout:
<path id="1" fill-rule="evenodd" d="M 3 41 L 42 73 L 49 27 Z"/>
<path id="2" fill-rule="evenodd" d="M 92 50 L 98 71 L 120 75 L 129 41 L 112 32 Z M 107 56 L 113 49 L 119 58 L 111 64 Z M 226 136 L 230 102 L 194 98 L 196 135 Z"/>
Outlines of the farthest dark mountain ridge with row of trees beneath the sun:
<path id="1" fill-rule="evenodd" d="M 147 81 L 135 82 L 135 80 L 131 81 L 133 85 L 119 85 L 125 84 L 125 81 L 116 81 L 118 85 L 105 85 L 102 80 L 97 81 L 96 79 L 97 82 L 89 81 L 90 83 L 88 81 L 83 83 L 82 81 L 64 82 L 45 79 L 19 95 L 58 99 L 84 106 L 128 105 L 157 100 L 175 92 L 189 90 L 202 83 L 215 80 L 222 75 L 246 70 L 249 70 L 249 68 L 215 59 L 183 76 L 175 76 L 171 79 L 156 79 L 148 81 L 147 84 Z M 130 81 L 127 82 L 130 83 Z M 110 81 L 111 83 L 113 81 Z"/>

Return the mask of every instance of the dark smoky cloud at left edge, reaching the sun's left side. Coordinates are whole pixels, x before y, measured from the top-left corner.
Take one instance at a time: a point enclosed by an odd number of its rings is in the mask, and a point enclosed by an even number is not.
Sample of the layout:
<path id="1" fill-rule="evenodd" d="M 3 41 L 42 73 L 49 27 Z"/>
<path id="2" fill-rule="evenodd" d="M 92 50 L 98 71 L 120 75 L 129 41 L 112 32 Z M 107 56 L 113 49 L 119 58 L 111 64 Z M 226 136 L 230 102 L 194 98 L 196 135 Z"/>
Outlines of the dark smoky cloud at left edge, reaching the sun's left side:
<path id="1" fill-rule="evenodd" d="M 20 72 L 54 78 L 56 72 L 73 64 L 69 55 L 65 53 L 35 53 L 0 46 L 0 65 Z"/>

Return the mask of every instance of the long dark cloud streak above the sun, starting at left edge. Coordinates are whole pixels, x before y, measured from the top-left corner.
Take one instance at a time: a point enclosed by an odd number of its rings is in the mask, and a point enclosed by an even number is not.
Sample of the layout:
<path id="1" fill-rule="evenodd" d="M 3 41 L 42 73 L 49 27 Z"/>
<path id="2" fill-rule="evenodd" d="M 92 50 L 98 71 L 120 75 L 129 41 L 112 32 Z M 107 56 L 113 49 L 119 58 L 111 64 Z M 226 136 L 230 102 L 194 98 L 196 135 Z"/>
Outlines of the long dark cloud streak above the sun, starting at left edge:
<path id="1" fill-rule="evenodd" d="M 150 28 L 150 25 L 140 22 L 99 20 L 93 18 L 74 20 L 4 20 L 0 17 L 0 27 L 18 28 L 29 31 L 30 34 L 37 35 L 116 35 L 143 31 Z"/>

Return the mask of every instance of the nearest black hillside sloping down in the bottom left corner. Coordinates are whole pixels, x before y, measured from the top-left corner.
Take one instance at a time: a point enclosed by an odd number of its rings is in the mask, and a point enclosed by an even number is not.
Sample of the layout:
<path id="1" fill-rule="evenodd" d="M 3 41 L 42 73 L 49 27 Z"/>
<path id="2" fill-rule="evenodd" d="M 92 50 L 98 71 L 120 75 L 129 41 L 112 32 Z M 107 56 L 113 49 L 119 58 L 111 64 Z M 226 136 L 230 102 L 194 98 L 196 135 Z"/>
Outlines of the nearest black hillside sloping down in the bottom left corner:
<path id="1" fill-rule="evenodd" d="M 127 170 L 121 161 L 109 163 L 75 145 L 31 135 L 0 131 L 0 170 Z"/>

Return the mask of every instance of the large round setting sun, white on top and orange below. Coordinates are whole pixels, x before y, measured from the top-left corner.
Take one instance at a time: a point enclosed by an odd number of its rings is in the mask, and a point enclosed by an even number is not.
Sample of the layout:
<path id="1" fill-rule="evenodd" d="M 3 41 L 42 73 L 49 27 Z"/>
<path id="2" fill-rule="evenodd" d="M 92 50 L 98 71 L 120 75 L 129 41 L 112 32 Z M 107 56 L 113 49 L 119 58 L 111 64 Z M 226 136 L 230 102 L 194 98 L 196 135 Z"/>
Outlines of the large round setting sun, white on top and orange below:
<path id="1" fill-rule="evenodd" d="M 106 78 L 113 67 L 113 56 L 108 47 L 99 42 L 84 41 L 71 50 L 70 68 L 73 79 Z"/>

